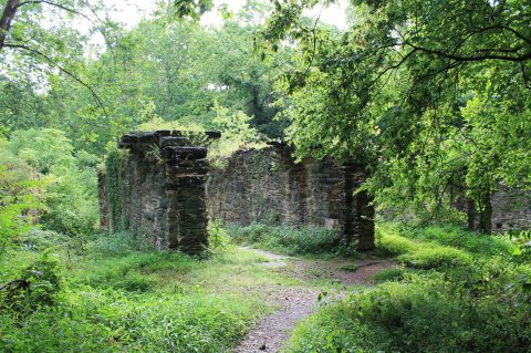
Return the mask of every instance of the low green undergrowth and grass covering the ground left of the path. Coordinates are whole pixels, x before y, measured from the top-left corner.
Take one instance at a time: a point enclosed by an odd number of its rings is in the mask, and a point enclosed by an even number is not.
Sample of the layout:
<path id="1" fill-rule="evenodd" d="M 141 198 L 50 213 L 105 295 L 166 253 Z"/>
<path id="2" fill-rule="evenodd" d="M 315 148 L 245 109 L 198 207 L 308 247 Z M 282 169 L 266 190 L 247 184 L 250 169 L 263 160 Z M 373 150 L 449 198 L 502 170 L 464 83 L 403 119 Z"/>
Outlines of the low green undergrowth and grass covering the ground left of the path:
<path id="1" fill-rule="evenodd" d="M 0 261 L 0 351 L 227 352 L 270 310 L 259 288 L 282 281 L 252 252 L 200 260 L 131 239 L 96 238 L 82 253 L 51 231 L 21 239 Z"/>

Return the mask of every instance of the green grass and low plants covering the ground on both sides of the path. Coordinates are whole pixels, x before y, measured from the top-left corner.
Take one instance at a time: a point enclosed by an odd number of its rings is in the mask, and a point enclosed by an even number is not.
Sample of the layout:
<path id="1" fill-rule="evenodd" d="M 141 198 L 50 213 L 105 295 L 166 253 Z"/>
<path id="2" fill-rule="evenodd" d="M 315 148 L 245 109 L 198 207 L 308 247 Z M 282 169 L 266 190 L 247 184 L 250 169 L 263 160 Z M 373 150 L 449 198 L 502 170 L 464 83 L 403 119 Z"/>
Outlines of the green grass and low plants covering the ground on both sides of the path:
<path id="1" fill-rule="evenodd" d="M 256 224 L 228 233 L 284 253 L 350 251 L 319 228 Z M 31 273 L 35 284 L 0 297 L 2 352 L 230 352 L 274 310 L 267 288 L 310 283 L 289 268 L 267 269 L 269 260 L 251 250 L 229 246 L 200 260 L 139 251 L 127 235 L 94 239 L 82 255 L 58 246 L 41 258 L 46 243 L 61 243 L 55 237 L 38 232 L 0 261 L 0 282 Z M 513 261 L 513 250 L 509 239 L 455 227 L 379 224 L 372 256 L 402 266 L 375 274 L 375 288 L 323 303 L 298 325 L 287 352 L 529 352 L 531 267 Z"/>

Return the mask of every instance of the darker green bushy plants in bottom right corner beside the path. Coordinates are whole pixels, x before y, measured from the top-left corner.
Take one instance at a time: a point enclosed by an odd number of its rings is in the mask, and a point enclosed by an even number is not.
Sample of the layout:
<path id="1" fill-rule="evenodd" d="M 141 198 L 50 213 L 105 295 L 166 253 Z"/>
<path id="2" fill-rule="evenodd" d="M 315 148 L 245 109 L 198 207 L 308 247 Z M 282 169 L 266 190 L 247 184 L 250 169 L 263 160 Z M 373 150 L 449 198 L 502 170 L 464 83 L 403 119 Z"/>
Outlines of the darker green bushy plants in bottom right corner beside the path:
<path id="1" fill-rule="evenodd" d="M 529 352 L 530 292 L 510 270 L 476 268 L 476 283 L 486 273 L 481 285 L 433 272 L 354 293 L 299 325 L 287 352 Z"/>

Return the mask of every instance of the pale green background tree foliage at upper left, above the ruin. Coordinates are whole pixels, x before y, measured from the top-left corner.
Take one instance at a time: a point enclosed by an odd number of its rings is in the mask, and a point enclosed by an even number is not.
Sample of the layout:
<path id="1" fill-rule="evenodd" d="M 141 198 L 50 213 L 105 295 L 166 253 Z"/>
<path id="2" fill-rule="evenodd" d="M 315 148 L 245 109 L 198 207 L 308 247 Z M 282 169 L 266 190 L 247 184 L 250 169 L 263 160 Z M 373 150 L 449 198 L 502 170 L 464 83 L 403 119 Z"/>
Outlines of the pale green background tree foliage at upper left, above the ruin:
<path id="1" fill-rule="evenodd" d="M 24 3 L 13 28 L 21 37 L 9 38 L 29 50 L 1 50 L 10 60 L 0 61 L 0 124 L 8 134 L 61 129 L 76 149 L 102 155 L 107 143 L 155 117 L 215 128 L 214 106 L 219 104 L 230 115 L 249 116 L 249 125 L 260 133 L 282 136 L 285 124 L 273 121 L 279 108 L 271 105 L 272 83 L 288 62 L 289 49 L 261 61 L 252 44 L 270 7 L 250 1 L 225 17 L 219 28 L 176 19 L 205 11 L 207 2 L 160 2 L 150 18 L 126 28 L 102 15 L 110 11 L 103 1 L 93 1 L 90 9 L 59 1 L 105 18 L 91 28 L 91 35 L 75 30 L 76 12 L 69 18 L 52 3 Z M 105 38 L 103 51 L 90 40 L 96 32 Z M 34 40 L 25 41 L 27 35 Z"/>

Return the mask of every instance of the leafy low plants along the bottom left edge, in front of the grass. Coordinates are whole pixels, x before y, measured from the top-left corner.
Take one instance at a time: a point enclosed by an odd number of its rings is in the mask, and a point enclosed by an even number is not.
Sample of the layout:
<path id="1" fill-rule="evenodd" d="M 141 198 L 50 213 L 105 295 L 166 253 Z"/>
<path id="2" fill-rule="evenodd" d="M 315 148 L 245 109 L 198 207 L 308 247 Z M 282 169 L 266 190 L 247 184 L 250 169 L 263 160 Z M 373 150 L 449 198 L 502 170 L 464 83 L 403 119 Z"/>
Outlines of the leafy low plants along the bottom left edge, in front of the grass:
<path id="1" fill-rule="evenodd" d="M 84 287 L 25 318 L 0 312 L 2 352 L 227 352 L 254 320 L 241 298 L 128 298 Z"/>

